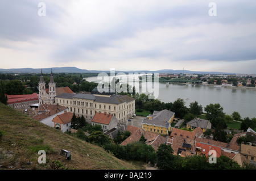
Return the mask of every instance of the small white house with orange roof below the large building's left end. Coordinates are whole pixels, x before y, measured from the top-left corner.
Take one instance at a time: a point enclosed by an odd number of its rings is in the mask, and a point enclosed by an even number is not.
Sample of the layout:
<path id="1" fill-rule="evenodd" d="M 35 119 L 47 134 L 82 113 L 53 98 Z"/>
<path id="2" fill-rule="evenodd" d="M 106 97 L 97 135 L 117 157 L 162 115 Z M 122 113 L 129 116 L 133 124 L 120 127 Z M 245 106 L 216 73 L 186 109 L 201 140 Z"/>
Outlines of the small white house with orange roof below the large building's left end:
<path id="1" fill-rule="evenodd" d="M 73 113 L 64 111 L 64 113 L 57 115 L 53 118 L 53 127 L 59 128 L 61 132 L 66 132 L 71 130 L 71 119 Z"/>

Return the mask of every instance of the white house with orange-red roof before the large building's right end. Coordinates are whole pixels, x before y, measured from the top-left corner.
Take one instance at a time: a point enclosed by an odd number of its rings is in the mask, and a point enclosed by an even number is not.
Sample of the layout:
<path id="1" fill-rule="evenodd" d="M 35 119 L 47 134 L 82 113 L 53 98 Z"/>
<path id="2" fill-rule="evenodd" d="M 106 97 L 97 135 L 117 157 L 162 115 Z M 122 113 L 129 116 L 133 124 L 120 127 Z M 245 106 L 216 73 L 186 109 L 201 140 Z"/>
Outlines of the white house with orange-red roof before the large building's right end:
<path id="1" fill-rule="evenodd" d="M 96 124 L 101 125 L 103 131 L 109 131 L 110 129 L 117 127 L 117 118 L 106 112 L 96 112 L 92 119 L 92 125 Z"/>

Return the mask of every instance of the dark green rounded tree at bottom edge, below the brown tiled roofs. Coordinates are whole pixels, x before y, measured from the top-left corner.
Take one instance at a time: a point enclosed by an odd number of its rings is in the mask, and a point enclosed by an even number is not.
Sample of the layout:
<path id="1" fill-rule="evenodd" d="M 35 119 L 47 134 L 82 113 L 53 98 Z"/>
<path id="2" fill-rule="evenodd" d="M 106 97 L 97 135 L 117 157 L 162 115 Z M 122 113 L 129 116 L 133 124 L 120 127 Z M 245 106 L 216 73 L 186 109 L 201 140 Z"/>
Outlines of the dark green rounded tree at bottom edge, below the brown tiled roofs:
<path id="1" fill-rule="evenodd" d="M 174 161 L 174 150 L 171 145 L 161 144 L 156 151 L 159 169 L 171 169 Z"/>

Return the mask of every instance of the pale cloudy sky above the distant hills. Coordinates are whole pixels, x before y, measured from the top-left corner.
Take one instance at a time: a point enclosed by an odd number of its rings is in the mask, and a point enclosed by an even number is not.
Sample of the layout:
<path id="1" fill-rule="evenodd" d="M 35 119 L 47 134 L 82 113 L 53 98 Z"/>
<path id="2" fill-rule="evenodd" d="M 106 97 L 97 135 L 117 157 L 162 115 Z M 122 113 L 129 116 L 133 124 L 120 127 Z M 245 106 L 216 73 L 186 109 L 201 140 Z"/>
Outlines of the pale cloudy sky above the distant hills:
<path id="1" fill-rule="evenodd" d="M 256 74 L 255 0 L 1 0 L 0 68 Z"/>

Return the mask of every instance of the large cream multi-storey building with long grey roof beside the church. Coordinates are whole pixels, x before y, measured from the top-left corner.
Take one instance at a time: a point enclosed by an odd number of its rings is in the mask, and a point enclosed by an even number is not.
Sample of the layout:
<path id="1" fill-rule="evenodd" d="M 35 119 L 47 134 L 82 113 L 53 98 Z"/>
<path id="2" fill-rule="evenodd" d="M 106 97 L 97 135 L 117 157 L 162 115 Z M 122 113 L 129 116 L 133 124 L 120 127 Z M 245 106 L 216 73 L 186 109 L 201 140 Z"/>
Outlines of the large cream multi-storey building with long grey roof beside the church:
<path id="1" fill-rule="evenodd" d="M 135 113 L 135 99 L 127 95 L 97 95 L 64 93 L 55 96 L 55 103 L 69 108 L 76 115 L 92 120 L 96 112 L 114 115 L 124 122 Z"/>

